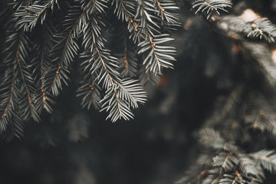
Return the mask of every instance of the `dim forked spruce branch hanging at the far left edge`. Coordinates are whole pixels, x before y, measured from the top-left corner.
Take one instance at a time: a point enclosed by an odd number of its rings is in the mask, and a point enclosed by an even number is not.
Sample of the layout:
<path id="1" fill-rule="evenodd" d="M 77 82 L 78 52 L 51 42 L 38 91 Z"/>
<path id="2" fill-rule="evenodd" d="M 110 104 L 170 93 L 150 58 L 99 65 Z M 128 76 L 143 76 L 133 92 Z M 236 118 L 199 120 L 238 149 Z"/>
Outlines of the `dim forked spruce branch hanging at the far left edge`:
<path id="1" fill-rule="evenodd" d="M 28 43 L 26 34 L 14 32 L 13 28 L 10 28 L 6 40 L 9 47 L 6 48 L 7 56 L 3 62 L 8 68 L 3 76 L 3 88 L 1 89 L 3 96 L 1 96 L 0 104 L 4 105 L 3 108 L 1 107 L 1 132 L 6 130 L 10 121 L 18 125 L 19 119 L 28 120 L 30 116 L 34 121 L 40 120 L 34 99 L 34 81 L 26 62 Z"/>

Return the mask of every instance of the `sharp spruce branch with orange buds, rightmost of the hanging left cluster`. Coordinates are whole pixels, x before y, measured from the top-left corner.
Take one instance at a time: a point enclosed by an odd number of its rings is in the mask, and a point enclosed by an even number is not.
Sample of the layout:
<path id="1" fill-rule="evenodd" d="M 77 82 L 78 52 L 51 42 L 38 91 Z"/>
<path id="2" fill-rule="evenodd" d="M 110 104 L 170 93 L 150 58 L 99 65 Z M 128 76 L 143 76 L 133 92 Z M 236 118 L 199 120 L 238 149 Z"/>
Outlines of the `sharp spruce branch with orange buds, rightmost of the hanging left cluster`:
<path id="1" fill-rule="evenodd" d="M 161 46 L 159 44 L 171 41 L 173 39 L 170 39 L 168 34 L 161 34 L 161 32 L 158 30 L 160 25 L 153 21 L 155 19 L 159 20 L 159 16 L 161 15 L 156 14 L 157 10 L 155 3 L 157 2 L 152 3 L 148 1 L 139 1 L 135 17 L 132 17 L 132 9 L 128 8 L 130 6 L 129 4 L 119 0 L 116 2 L 115 12 L 117 13 L 117 17 L 121 17 L 121 19 L 128 21 L 128 31 L 132 33 L 131 37 L 133 41 L 135 43 L 138 42 L 138 46 L 140 47 L 138 54 L 147 51 L 144 53 L 147 54 L 147 57 L 143 62 L 143 64 L 146 65 L 146 72 L 153 72 L 156 75 L 157 73 L 161 73 L 161 67 L 172 68 L 172 63 L 170 63 L 170 61 L 175 61 L 175 58 L 172 57 L 175 54 L 175 48 L 167 48 L 166 46 Z M 157 4 L 160 8 L 161 3 L 159 3 Z M 175 6 L 172 6 L 173 4 L 168 6 L 167 3 L 164 3 L 164 5 L 166 5 L 168 10 L 176 9 Z M 165 11 L 163 8 L 161 9 L 161 12 L 163 12 L 162 14 L 164 16 L 165 13 L 163 10 Z M 169 19 L 168 23 L 177 22 L 177 17 L 175 14 L 168 13 L 166 16 L 172 16 L 174 19 L 174 21 Z M 144 41 L 141 41 L 141 38 L 143 38 Z"/>

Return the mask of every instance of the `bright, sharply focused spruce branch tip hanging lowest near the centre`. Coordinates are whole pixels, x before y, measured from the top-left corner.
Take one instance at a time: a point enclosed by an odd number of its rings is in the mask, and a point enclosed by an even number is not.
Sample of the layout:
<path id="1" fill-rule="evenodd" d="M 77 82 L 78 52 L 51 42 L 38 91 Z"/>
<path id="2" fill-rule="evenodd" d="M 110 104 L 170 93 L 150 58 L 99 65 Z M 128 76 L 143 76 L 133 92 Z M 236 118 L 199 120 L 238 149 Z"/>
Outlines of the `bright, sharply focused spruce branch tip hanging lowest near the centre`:
<path id="1" fill-rule="evenodd" d="M 146 94 L 143 88 L 135 84 L 136 81 L 127 80 L 127 81 L 118 81 L 119 73 L 112 67 L 117 67 L 112 57 L 108 57 L 102 54 L 107 54 L 106 52 L 100 52 L 98 48 L 95 47 L 97 51 L 97 58 L 94 72 L 99 70 L 98 77 L 96 80 L 98 83 L 103 83 L 103 88 L 106 89 L 106 95 L 99 102 L 103 105 L 101 106 L 101 111 L 106 110 L 109 112 L 107 117 L 111 119 L 112 122 L 117 121 L 117 119 L 124 118 L 129 120 L 134 115 L 130 111 L 130 106 L 132 108 L 137 108 L 137 102 L 144 103 Z M 107 59 L 106 61 L 103 58 Z M 111 72 L 112 71 L 112 72 Z M 99 78 L 101 77 L 101 78 Z"/>

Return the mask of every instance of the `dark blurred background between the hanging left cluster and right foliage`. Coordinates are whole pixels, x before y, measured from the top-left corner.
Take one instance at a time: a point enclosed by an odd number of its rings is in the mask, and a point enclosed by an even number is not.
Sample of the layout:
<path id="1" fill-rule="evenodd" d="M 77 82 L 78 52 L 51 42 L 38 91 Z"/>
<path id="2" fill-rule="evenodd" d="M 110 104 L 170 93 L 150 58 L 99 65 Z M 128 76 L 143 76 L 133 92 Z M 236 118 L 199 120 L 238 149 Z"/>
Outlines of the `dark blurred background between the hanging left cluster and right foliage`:
<path id="1" fill-rule="evenodd" d="M 276 22 L 274 1 L 233 1 Z M 1 183 L 173 183 L 184 175 L 200 147 L 197 130 L 219 96 L 244 79 L 244 57 L 233 39 L 214 30 L 181 1 L 182 26 L 173 32 L 175 70 L 148 85 L 148 102 L 132 121 L 106 121 L 83 110 L 78 81 L 57 99 L 53 114 L 28 122 L 25 137 L 0 141 Z M 242 9 L 241 9 L 242 10 Z M 242 14 L 241 11 L 233 14 Z"/>

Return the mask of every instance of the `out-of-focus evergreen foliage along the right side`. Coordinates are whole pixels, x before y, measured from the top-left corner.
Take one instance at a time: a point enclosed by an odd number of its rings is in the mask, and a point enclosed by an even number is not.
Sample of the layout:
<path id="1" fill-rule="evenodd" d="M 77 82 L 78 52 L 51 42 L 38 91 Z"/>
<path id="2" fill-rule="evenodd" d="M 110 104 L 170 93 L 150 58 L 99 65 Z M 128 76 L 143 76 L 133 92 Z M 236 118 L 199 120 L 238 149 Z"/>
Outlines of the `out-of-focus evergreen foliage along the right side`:
<path id="1" fill-rule="evenodd" d="M 227 11 L 224 8 L 231 5 L 230 1 L 220 0 L 193 2 L 196 13 L 202 12 L 207 19 L 213 16 L 209 20 L 212 26 L 237 41 L 244 55 L 251 56 L 244 57 L 245 60 L 251 65 L 259 64 L 249 72 L 259 70 L 257 73 L 263 74 L 266 85 L 257 85 L 259 89 L 250 85 L 252 74 L 246 74 L 244 81 L 234 82 L 233 90 L 222 102 L 217 101 L 214 114 L 197 134 L 201 156 L 177 183 L 264 183 L 267 172 L 275 173 L 275 150 L 268 150 L 265 145 L 275 137 L 274 98 L 266 97 L 275 92 L 271 77 L 275 70 L 268 66 L 273 63 L 271 55 L 265 54 L 271 53 L 268 43 L 275 44 L 275 24 L 248 9 L 237 17 L 213 14 L 217 10 Z M 248 11 L 250 15 L 246 14 Z M 267 43 L 257 43 L 259 40 Z"/>

